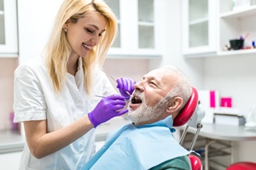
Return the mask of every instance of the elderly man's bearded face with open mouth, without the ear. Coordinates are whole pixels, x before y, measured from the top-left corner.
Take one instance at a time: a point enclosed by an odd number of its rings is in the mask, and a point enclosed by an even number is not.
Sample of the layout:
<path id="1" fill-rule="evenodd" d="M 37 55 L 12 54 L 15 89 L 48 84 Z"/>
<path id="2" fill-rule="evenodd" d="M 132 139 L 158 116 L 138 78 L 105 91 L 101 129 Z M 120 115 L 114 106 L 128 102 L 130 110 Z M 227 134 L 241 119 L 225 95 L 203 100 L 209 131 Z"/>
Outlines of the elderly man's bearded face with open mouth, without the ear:
<path id="1" fill-rule="evenodd" d="M 134 86 L 129 104 L 128 117 L 132 122 L 156 122 L 166 111 L 166 94 L 176 82 L 176 77 L 166 69 L 148 72 L 141 82 Z"/>

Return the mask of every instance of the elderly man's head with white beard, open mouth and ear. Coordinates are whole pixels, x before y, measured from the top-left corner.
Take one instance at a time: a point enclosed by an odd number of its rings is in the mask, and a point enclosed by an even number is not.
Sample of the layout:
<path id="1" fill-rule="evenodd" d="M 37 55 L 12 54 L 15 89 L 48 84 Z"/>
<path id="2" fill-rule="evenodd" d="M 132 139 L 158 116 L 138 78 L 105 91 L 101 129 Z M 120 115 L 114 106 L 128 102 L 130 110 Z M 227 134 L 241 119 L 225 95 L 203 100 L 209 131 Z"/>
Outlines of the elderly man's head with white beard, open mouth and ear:
<path id="1" fill-rule="evenodd" d="M 183 84 L 180 75 L 175 69 L 156 69 L 134 85 L 127 116 L 136 126 L 177 116 L 184 105 L 183 98 L 178 96 L 180 83 Z"/>

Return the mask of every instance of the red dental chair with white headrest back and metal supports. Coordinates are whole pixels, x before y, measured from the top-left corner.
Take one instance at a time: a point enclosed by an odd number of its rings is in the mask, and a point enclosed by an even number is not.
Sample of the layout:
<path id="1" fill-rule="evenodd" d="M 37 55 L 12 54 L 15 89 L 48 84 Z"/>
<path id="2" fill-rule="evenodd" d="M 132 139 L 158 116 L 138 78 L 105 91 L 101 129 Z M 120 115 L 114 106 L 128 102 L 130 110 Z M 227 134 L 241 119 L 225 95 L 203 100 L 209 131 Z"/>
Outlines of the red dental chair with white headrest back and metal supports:
<path id="1" fill-rule="evenodd" d="M 183 144 L 183 139 L 185 138 L 189 128 L 196 128 L 197 130 L 195 136 L 189 146 L 189 150 L 193 150 L 195 141 L 202 127 L 201 120 L 204 118 L 204 116 L 205 111 L 199 104 L 198 92 L 195 88 L 192 88 L 192 94 L 189 101 L 173 121 L 173 127 L 181 127 L 187 123 L 185 129 L 183 130 L 179 144 Z M 202 169 L 201 160 L 197 156 L 189 155 L 189 160 L 191 162 L 192 170 Z"/>

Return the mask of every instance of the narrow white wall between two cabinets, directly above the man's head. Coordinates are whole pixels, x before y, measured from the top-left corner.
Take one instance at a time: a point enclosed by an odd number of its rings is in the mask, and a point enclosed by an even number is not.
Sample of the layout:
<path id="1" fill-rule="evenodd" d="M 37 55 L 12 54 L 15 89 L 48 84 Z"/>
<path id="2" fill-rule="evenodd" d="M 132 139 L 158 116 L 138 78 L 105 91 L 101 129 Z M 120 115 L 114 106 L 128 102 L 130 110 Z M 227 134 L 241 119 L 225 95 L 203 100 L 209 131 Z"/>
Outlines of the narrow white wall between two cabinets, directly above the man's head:
<path id="1" fill-rule="evenodd" d="M 163 45 L 163 58 L 158 62 L 149 62 L 149 70 L 162 65 L 174 65 L 189 77 L 195 88 L 203 88 L 203 59 L 184 59 L 182 54 L 182 8 L 181 2 L 176 0 L 165 0 L 163 11 L 166 12 L 162 24 L 161 41 Z"/>

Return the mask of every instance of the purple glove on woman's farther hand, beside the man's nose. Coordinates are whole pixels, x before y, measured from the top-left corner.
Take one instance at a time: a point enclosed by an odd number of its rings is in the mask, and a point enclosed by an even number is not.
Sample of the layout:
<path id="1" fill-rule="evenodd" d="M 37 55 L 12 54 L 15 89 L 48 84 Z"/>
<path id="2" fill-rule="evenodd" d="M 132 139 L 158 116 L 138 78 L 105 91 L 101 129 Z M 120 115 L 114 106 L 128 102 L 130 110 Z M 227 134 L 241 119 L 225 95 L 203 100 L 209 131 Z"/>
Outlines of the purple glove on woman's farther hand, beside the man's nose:
<path id="1" fill-rule="evenodd" d="M 134 90 L 133 86 L 136 83 L 134 80 L 130 78 L 119 78 L 116 81 L 118 85 L 116 88 L 119 88 L 119 92 L 122 96 L 125 97 L 125 99 L 130 99 L 130 96 Z"/>

